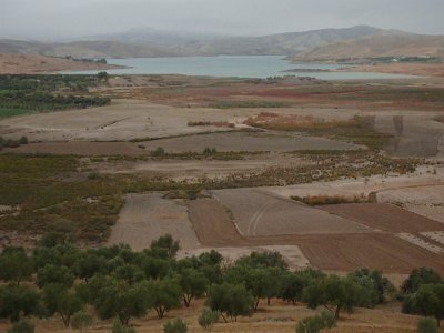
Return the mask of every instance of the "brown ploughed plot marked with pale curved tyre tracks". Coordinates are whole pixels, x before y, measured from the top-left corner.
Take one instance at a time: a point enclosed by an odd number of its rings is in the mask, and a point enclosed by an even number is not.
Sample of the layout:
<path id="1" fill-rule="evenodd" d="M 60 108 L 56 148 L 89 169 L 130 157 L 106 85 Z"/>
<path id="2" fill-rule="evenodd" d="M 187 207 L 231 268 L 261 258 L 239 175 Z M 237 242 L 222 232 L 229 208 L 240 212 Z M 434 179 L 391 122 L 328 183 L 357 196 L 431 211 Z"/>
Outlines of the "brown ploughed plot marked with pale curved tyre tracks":
<path id="1" fill-rule="evenodd" d="M 245 236 L 371 232 L 366 226 L 260 189 L 213 191 Z"/>

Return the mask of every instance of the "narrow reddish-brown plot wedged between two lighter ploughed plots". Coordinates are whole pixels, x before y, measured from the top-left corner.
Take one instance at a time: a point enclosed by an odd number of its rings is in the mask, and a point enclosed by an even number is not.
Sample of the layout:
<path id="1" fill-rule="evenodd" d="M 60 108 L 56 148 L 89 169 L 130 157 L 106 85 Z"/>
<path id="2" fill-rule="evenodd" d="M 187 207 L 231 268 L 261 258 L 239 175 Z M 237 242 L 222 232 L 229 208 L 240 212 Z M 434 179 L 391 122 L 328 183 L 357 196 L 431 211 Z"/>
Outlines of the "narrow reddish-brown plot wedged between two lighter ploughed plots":
<path id="1" fill-rule="evenodd" d="M 199 242 L 205 246 L 245 245 L 229 212 L 214 199 L 188 202 L 190 221 Z"/>

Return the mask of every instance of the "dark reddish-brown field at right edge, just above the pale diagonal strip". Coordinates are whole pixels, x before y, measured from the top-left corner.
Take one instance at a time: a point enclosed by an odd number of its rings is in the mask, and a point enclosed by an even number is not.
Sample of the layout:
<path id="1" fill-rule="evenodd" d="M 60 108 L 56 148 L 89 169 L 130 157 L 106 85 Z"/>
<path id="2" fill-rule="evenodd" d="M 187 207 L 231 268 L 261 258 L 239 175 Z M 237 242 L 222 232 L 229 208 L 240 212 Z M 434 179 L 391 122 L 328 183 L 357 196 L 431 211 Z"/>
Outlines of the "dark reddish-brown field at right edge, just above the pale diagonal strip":
<path id="1" fill-rule="evenodd" d="M 336 204 L 322 210 L 386 232 L 444 231 L 444 223 L 387 203 Z"/>

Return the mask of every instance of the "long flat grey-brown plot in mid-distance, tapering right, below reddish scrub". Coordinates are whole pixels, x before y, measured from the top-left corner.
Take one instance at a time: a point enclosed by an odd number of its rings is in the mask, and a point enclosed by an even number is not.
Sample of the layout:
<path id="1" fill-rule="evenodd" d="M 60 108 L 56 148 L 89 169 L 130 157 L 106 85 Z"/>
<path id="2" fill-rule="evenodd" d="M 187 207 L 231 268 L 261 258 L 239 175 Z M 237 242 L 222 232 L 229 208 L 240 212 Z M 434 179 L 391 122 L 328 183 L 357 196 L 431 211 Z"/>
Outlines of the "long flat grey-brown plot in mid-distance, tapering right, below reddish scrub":
<path id="1" fill-rule="evenodd" d="M 230 132 L 188 135 L 143 142 L 148 150 L 162 147 L 167 152 L 202 152 L 206 147 L 218 151 L 295 151 L 295 150 L 356 150 L 362 147 L 324 138 L 304 137 L 296 133 Z"/>

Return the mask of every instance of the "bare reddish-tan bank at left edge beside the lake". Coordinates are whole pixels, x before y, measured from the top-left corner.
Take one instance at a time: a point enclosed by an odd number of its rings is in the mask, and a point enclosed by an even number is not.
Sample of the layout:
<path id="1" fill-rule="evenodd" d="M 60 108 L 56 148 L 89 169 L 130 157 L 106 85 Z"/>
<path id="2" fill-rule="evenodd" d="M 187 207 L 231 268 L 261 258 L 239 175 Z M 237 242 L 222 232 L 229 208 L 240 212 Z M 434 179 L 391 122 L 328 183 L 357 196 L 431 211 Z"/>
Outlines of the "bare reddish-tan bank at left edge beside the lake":
<path id="1" fill-rule="evenodd" d="M 78 70 L 108 70 L 117 68 L 120 67 L 38 54 L 0 53 L 0 74 L 32 74 Z"/>

